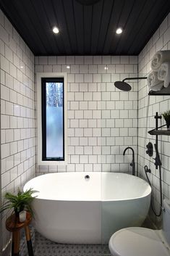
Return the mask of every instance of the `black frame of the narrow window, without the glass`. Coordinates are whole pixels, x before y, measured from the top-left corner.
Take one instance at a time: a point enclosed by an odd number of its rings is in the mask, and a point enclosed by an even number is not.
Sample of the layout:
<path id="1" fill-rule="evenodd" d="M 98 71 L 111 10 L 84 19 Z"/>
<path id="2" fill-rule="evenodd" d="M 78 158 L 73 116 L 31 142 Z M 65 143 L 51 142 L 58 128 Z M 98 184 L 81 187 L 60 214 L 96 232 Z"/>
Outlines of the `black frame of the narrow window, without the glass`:
<path id="1" fill-rule="evenodd" d="M 63 83 L 63 157 L 46 157 L 46 83 Z M 42 161 L 65 161 L 64 78 L 41 78 Z"/>

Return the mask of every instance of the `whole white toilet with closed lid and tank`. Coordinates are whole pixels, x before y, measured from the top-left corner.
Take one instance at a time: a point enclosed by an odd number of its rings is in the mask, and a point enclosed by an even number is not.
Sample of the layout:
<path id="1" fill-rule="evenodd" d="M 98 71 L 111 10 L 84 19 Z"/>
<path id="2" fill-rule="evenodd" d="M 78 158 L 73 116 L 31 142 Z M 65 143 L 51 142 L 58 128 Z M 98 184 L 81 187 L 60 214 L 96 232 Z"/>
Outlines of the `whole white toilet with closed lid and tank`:
<path id="1" fill-rule="evenodd" d="M 170 200 L 163 200 L 163 229 L 123 228 L 109 241 L 113 256 L 169 256 L 170 255 Z"/>

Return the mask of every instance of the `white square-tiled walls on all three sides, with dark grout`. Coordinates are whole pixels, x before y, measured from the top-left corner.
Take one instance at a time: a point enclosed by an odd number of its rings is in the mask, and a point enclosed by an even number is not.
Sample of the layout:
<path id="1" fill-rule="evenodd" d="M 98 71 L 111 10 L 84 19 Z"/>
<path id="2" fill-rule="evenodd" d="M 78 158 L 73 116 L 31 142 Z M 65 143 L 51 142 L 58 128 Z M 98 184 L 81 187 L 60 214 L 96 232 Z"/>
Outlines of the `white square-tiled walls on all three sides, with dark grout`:
<path id="1" fill-rule="evenodd" d="M 158 172 L 145 154 L 145 144 L 155 141 L 155 112 L 170 109 L 170 96 L 148 96 L 144 81 L 132 84 L 132 91 L 114 87 L 114 81 L 148 75 L 153 54 L 170 50 L 168 15 L 137 56 L 35 57 L 0 11 L 1 81 L 1 192 L 16 191 L 35 176 L 35 73 L 67 72 L 68 165 L 37 166 L 36 175 L 64 171 L 128 172 L 131 154 L 122 156 L 126 146 L 135 149 L 140 176 L 144 166 L 152 170 L 154 203 L 159 207 Z M 67 69 L 67 65 L 70 69 Z M 137 73 L 137 70 L 139 72 Z M 163 123 L 163 121 L 161 121 Z M 163 163 L 163 197 L 170 198 L 170 138 L 159 136 Z M 138 154 L 137 154 L 138 152 Z M 9 240 L 3 215 L 3 247 Z"/>

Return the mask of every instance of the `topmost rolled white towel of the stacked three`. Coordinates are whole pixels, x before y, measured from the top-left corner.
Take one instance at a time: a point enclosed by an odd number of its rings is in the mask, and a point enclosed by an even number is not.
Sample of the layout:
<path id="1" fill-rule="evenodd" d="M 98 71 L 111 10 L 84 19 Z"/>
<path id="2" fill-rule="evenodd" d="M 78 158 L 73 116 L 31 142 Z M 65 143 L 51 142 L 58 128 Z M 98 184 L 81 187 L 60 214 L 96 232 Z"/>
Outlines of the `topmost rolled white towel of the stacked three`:
<path id="1" fill-rule="evenodd" d="M 163 62 L 169 62 L 169 61 L 170 61 L 170 50 L 157 51 L 151 61 L 151 69 L 154 71 L 158 71 L 158 69 L 161 67 L 161 64 Z"/>

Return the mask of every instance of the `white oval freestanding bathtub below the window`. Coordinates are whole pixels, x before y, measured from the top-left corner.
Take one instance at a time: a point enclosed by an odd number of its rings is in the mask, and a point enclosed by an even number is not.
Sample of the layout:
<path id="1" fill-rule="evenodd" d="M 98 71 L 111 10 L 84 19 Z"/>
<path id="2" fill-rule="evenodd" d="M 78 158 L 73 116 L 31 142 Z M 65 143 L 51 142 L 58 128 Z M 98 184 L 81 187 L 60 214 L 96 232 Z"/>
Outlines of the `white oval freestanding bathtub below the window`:
<path id="1" fill-rule="evenodd" d="M 30 188 L 39 191 L 36 230 L 59 243 L 106 244 L 120 228 L 141 226 L 150 207 L 148 183 L 125 173 L 49 173 Z"/>

